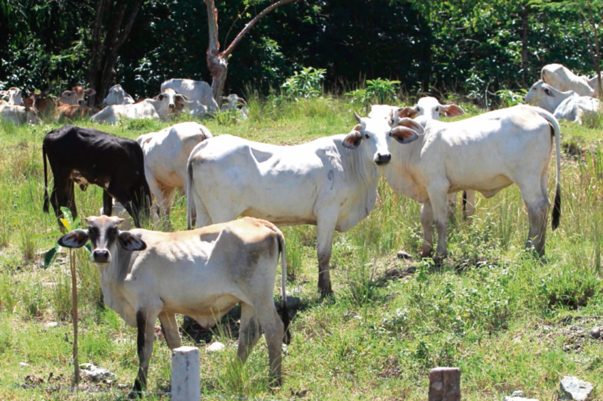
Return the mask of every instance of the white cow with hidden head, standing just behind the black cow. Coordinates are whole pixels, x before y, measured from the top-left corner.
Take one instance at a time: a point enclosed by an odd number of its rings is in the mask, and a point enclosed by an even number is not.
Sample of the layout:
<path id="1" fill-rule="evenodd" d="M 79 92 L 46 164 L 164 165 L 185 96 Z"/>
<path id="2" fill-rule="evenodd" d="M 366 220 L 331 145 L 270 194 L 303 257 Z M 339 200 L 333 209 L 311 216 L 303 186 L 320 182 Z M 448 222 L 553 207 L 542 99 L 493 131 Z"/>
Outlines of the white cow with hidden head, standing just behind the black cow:
<path id="1" fill-rule="evenodd" d="M 145 155 L 145 176 L 151 194 L 168 222 L 175 188 L 185 194 L 186 162 L 192 149 L 211 137 L 212 133 L 203 125 L 184 122 L 137 138 Z"/>

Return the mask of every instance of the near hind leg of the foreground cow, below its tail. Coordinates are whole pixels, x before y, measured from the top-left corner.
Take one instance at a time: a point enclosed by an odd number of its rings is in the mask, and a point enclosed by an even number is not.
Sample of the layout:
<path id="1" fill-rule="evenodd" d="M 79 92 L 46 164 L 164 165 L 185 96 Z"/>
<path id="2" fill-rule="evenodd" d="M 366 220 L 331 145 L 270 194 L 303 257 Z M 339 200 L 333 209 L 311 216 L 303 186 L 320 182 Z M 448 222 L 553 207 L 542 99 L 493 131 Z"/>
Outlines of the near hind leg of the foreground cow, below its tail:
<path id="1" fill-rule="evenodd" d="M 264 329 L 264 337 L 268 346 L 268 355 L 270 358 L 270 378 L 275 386 L 281 385 L 281 364 L 283 351 L 283 332 L 285 326 L 280 320 L 279 313 L 274 308 L 274 298 L 270 297 L 260 303 L 257 308 L 257 319 Z"/>

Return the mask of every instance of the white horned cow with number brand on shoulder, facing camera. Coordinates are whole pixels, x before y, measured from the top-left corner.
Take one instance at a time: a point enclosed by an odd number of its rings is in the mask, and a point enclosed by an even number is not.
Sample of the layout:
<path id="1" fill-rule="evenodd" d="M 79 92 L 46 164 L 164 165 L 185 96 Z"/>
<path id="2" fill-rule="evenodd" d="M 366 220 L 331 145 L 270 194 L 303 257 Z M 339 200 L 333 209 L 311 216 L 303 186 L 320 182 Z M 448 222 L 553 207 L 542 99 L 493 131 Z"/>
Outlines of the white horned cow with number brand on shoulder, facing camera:
<path id="1" fill-rule="evenodd" d="M 344 232 L 373 210 L 380 166 L 391 160 L 391 137 L 415 140 L 423 128 L 411 119 L 391 129 L 386 120 L 361 119 L 348 135 L 303 145 L 277 146 L 232 135 L 204 140 L 188 160 L 189 227 L 239 215 L 277 225 L 317 226 L 318 289 L 332 293 L 329 260 L 333 231 Z"/>

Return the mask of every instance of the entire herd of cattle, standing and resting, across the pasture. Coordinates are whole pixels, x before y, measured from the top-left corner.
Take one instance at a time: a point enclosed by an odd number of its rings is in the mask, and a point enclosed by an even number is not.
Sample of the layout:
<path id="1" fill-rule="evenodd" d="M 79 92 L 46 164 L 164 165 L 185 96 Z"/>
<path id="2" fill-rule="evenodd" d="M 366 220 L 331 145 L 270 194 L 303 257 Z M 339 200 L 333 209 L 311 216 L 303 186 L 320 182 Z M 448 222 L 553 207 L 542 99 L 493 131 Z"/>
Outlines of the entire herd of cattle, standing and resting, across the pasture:
<path id="1" fill-rule="evenodd" d="M 367 117 L 355 114 L 356 125 L 349 134 L 295 146 L 232 135 L 213 137 L 197 122 L 178 123 L 136 141 L 66 125 L 43 140 L 43 209 L 48 213 L 52 205 L 63 229 L 61 207 L 77 216 L 75 184 L 82 190 L 90 184 L 103 188 L 101 214 L 106 216 L 88 217 L 87 229 L 69 232 L 59 243 L 81 247 L 90 240 L 106 305 L 137 328 L 140 365 L 134 390 L 146 385 L 157 318 L 173 349 L 180 346 L 176 313 L 207 327 L 238 302 L 242 305 L 238 356 L 245 361 L 263 331 L 270 375 L 278 383 L 282 343 L 290 336 L 285 239 L 277 226 L 317 226 L 318 290 L 329 296 L 333 232 L 347 231 L 370 214 L 382 174 L 393 190 L 422 205 L 421 256 L 436 261 L 446 255 L 447 198 L 466 191 L 469 217 L 475 210 L 475 191 L 492 197 L 516 184 L 528 211 L 526 247 L 543 255 L 551 206 L 546 184 L 554 149 L 553 229 L 561 216 L 557 118 L 579 122 L 584 113 L 598 110 L 598 100 L 590 97 L 598 94 L 593 82 L 551 64 L 525 96 L 526 102 L 540 107 L 517 105 L 443 122 L 441 115 L 461 116 L 463 109 L 429 97 L 414 107 L 372 105 Z M 68 118 L 92 114 L 92 121 L 115 123 L 119 118 L 167 119 L 182 110 L 191 116 L 218 110 L 209 85 L 190 79 L 169 79 L 155 99 L 140 102 L 115 85 L 103 101 L 106 107 L 95 113 L 85 101 L 93 92 L 74 87 L 54 105 L 44 101 L 45 93 L 11 88 L 3 93 L 9 100 L 0 110 L 3 118 L 32 123 L 37 113 Z M 226 100 L 226 108 L 245 116 L 246 108 L 239 108 L 244 105 L 241 98 L 231 95 Z M 50 195 L 47 159 L 54 176 Z M 189 230 L 140 229 L 147 218 L 157 222 L 163 217 L 169 223 L 176 189 L 186 195 Z M 108 217 L 114 207 L 125 208 L 137 228 L 128 231 L 124 219 Z M 236 220 L 238 216 L 244 219 Z M 280 316 L 273 297 L 279 254 Z"/>

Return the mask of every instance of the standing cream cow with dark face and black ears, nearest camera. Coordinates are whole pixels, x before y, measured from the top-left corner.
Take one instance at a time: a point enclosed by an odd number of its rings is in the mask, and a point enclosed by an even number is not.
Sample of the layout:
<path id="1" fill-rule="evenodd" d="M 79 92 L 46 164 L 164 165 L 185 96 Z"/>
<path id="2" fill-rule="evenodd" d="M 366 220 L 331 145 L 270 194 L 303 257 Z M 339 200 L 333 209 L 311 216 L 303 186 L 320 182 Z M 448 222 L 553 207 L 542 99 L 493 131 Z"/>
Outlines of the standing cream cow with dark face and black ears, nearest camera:
<path id="1" fill-rule="evenodd" d="M 104 302 L 137 329 L 139 368 L 134 391 L 147 385 L 159 317 L 166 343 L 180 347 L 176 313 L 213 326 L 241 302 L 237 355 L 242 362 L 264 331 L 270 376 L 281 381 L 282 343 L 288 344 L 285 238 L 264 220 L 240 219 L 194 231 L 120 231 L 118 217 L 88 217 L 88 229 L 58 240 L 61 246 L 92 244 Z M 281 255 L 282 320 L 274 307 L 274 278 Z M 286 336 L 286 337 L 285 337 Z"/>

